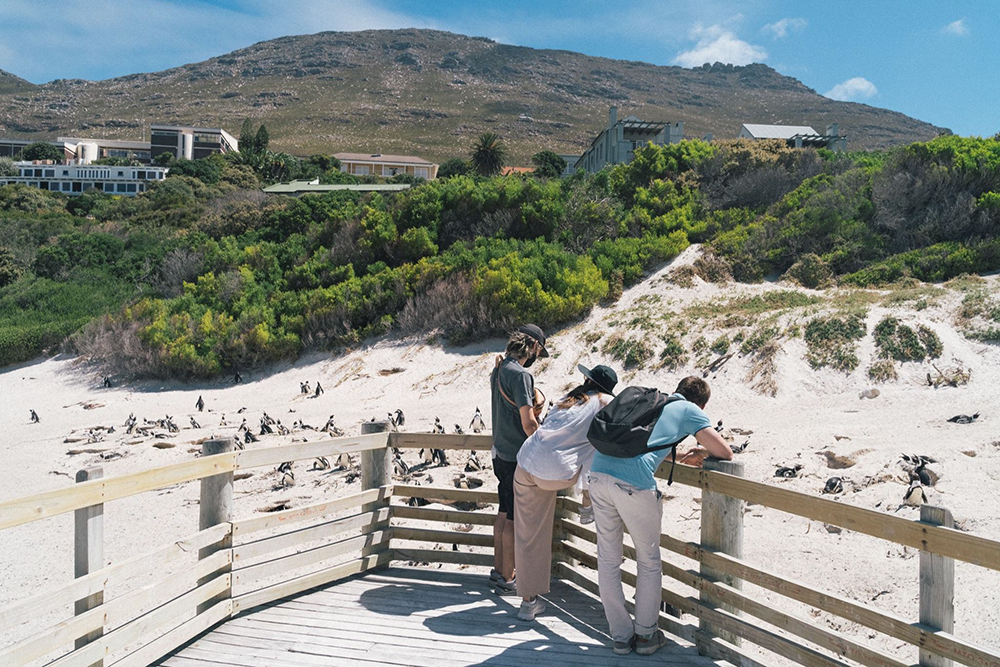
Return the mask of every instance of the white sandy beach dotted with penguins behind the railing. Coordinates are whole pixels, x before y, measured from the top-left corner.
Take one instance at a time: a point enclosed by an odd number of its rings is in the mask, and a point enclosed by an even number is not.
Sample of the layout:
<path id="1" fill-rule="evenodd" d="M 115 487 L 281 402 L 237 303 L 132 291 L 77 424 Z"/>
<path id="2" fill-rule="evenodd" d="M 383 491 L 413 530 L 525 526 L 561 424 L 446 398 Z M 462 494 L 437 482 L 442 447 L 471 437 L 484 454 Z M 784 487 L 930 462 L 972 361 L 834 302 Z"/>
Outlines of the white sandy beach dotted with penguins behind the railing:
<path id="1" fill-rule="evenodd" d="M 578 383 L 578 363 L 611 365 L 619 370 L 622 386 L 672 389 L 680 377 L 700 374 L 703 366 L 698 360 L 703 355 L 690 350 L 699 338 L 711 343 L 722 329 L 717 319 L 700 319 L 695 313 L 710 311 L 716 307 L 713 304 L 775 290 L 794 290 L 820 299 L 805 308 L 775 313 L 786 328 L 796 321 L 804 324 L 814 313 L 826 312 L 838 299 L 857 296 L 844 290 L 813 292 L 774 283 L 716 285 L 698 278 L 691 287 L 681 287 L 666 279 L 678 266 L 690 263 L 697 252 L 696 247 L 690 248 L 671 265 L 626 290 L 614 305 L 596 308 L 583 321 L 549 332 L 552 357 L 532 369 L 546 395 L 558 397 Z M 996 277 L 986 280 L 991 288 L 996 287 Z M 929 467 L 939 476 L 928 490 L 930 502 L 950 509 L 961 530 L 1000 539 L 1000 348 L 963 336 L 956 324 L 962 294 L 956 290 L 940 292 L 926 298 L 920 307 L 912 301 L 881 299 L 884 293 L 863 293 L 868 295 L 865 322 L 869 335 L 858 345 L 860 364 L 850 373 L 812 369 L 800 336 L 779 341 L 781 351 L 775 359 L 774 375 L 777 393 L 773 397 L 760 393 L 748 380 L 752 357 L 737 353 L 710 374 L 713 397 L 707 408 L 709 416 L 723 420 L 730 432 L 752 431 L 748 436 L 734 435 L 737 442 L 750 440 L 747 450 L 738 455 L 746 465 L 746 476 L 819 495 L 826 480 L 838 475 L 845 479 L 845 492 L 835 496 L 837 500 L 916 519 L 917 508 L 901 506 L 907 488 L 901 454 L 929 455 L 937 460 Z M 943 352 L 934 365 L 897 364 L 896 380 L 875 385 L 868 377 L 868 367 L 877 355 L 870 334 L 886 314 L 928 326 L 940 337 Z M 656 367 L 667 332 L 679 332 L 688 350 L 684 362 L 673 370 Z M 623 369 L 620 361 L 603 351 L 616 334 L 655 343 L 653 358 L 640 367 Z M 477 406 L 488 423 L 487 378 L 493 355 L 502 350 L 504 342 L 490 340 L 455 348 L 442 347 L 430 336 L 390 336 L 368 341 L 346 354 L 317 353 L 294 364 L 247 372 L 238 385 L 224 378 L 207 383 L 141 381 L 107 389 L 86 363 L 67 357 L 7 368 L 0 373 L 0 428 L 5 436 L 0 441 L 5 471 L 0 500 L 67 486 L 73 483 L 76 471 L 89 466 L 101 466 L 105 476 L 114 476 L 189 460 L 196 456 L 198 442 L 213 435 L 234 434 L 244 418 L 256 433 L 264 412 L 289 428 L 302 421 L 319 429 L 333 415 L 347 434 L 360 432 L 361 422 L 385 419 L 397 409 L 405 413 L 402 430 L 407 432 L 430 431 L 435 418 L 440 418 L 449 433 L 456 424 L 467 429 Z M 709 356 L 714 359 L 718 355 Z M 971 372 L 968 384 L 927 385 L 926 375 L 934 372 L 934 366 L 958 365 Z M 315 398 L 303 395 L 302 382 L 311 387 L 320 382 L 325 393 Z M 873 387 L 879 390 L 876 398 L 859 398 L 862 391 Z M 199 396 L 205 403 L 202 412 L 195 407 Z M 37 424 L 29 421 L 31 409 L 38 413 Z M 980 417 L 971 424 L 947 421 L 957 414 L 977 412 Z M 143 420 L 170 415 L 180 432 L 161 438 L 126 435 L 122 424 L 130 414 L 140 425 Z M 192 426 L 191 418 L 199 428 Z M 88 432 L 99 426 L 114 426 L 115 433 L 90 437 Z M 163 429 L 154 431 L 162 433 Z M 316 430 L 295 429 L 288 436 L 268 435 L 249 446 L 325 437 Z M 417 462 L 415 451 L 406 452 L 404 457 Z M 430 468 L 427 474 L 434 484 L 450 486 L 466 459 L 465 452 L 455 452 L 450 466 Z M 776 468 L 797 464 L 802 468 L 796 478 L 775 478 Z M 349 471 L 310 470 L 310 466 L 309 461 L 295 465 L 296 484 L 291 488 L 274 488 L 278 474 L 272 469 L 258 469 L 252 477 L 239 480 L 237 518 L 253 516 L 279 500 L 301 506 L 353 492 L 359 486 L 357 480 L 347 481 Z M 476 475 L 485 481 L 484 488 L 495 487 L 490 470 Z M 665 491 L 664 530 L 696 541 L 698 493 L 676 484 L 669 489 L 665 482 L 661 484 Z M 104 519 L 107 559 L 138 555 L 195 532 L 197 499 L 198 486 L 185 484 L 109 504 Z M 0 605 L 68 581 L 72 577 L 72 535 L 70 514 L 4 531 Z M 752 564 L 917 620 L 918 552 L 913 549 L 754 505 L 747 508 L 745 536 L 745 559 Z M 678 586 L 678 590 L 684 589 Z M 759 595 L 779 608 L 810 616 L 794 602 L 765 591 Z M 958 563 L 955 634 L 1000 648 L 998 609 L 1000 573 Z M 874 633 L 826 614 L 813 612 L 811 617 L 891 654 L 916 658 L 915 649 L 904 648 L 900 642 L 871 639 Z M 22 630 L 30 625 L 25 624 Z M 4 637 L 2 643 L 10 639 Z"/>

